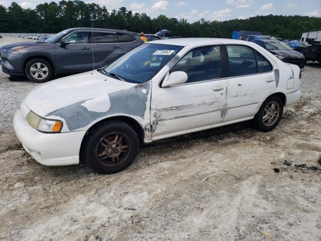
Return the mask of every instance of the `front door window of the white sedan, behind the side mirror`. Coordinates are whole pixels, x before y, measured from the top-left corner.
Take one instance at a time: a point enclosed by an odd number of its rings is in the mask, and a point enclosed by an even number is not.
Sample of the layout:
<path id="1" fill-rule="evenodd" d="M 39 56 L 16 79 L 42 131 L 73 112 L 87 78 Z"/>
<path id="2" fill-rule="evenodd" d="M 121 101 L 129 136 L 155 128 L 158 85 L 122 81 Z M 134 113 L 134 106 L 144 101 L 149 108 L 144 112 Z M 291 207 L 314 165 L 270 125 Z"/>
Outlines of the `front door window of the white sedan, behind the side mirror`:
<path id="1" fill-rule="evenodd" d="M 188 52 L 171 70 L 184 71 L 186 83 L 198 82 L 221 77 L 220 46 L 206 46 Z"/>

